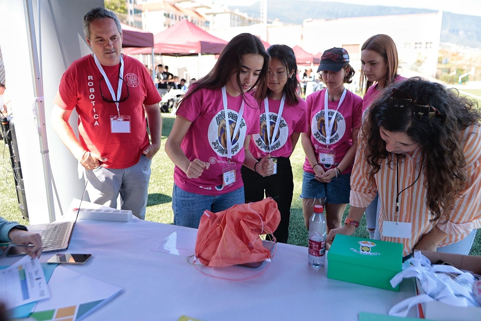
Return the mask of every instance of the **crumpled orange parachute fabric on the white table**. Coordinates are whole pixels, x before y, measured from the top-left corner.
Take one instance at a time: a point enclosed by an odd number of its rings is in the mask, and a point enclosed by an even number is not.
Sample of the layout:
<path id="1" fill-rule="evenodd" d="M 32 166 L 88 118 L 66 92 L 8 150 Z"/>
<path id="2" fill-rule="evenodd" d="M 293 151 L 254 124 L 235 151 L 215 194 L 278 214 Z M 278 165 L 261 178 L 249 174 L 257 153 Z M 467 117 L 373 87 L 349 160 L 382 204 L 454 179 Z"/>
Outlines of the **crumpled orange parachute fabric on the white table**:
<path id="1" fill-rule="evenodd" d="M 263 261 L 271 253 L 259 234 L 272 234 L 279 222 L 277 203 L 271 197 L 217 213 L 206 210 L 197 232 L 195 255 L 210 267 Z"/>

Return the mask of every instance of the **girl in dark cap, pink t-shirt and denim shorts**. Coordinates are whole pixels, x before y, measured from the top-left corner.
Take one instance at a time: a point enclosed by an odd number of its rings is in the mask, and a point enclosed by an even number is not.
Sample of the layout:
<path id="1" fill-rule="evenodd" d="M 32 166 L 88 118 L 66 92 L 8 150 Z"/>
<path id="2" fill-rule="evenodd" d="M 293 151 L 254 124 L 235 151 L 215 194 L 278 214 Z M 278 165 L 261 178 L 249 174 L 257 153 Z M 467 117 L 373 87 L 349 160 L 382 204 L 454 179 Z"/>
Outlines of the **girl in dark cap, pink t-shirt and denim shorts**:
<path id="1" fill-rule="evenodd" d="M 307 229 L 314 205 L 325 201 L 329 231 L 341 226 L 349 203 L 362 99 L 344 88 L 354 76 L 345 49 L 324 51 L 317 72 L 327 88 L 306 98 L 309 129 L 301 136 L 306 155 L 301 197 Z"/>

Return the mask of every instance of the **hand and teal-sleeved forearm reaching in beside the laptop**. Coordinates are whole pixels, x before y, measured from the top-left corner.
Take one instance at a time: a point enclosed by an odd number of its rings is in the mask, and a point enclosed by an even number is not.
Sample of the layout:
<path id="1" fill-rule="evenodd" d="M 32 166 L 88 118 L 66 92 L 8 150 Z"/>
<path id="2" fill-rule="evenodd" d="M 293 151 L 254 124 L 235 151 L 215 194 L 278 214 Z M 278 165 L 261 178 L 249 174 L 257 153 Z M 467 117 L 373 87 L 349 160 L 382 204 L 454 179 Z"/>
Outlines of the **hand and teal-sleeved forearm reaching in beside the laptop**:
<path id="1" fill-rule="evenodd" d="M 0 242 L 12 242 L 14 244 L 34 247 L 22 247 L 21 249 L 32 258 L 40 257 L 42 253 L 42 237 L 38 233 L 27 231 L 26 227 L 17 222 L 7 221 L 0 217 Z M 0 249 L 0 254 L 2 250 Z"/>

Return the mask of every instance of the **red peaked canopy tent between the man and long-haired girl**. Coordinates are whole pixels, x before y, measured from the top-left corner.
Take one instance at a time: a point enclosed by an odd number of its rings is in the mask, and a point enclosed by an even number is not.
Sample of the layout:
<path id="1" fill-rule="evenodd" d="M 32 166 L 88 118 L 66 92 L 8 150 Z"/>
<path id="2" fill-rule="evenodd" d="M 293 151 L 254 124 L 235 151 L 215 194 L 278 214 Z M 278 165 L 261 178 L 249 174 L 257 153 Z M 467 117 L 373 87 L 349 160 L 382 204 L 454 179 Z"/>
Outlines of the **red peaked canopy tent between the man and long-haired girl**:
<path id="1" fill-rule="evenodd" d="M 227 45 L 227 41 L 217 38 L 187 20 L 154 35 L 153 51 L 169 56 L 193 56 L 217 54 Z M 152 53 L 151 48 L 128 48 L 127 54 Z"/>

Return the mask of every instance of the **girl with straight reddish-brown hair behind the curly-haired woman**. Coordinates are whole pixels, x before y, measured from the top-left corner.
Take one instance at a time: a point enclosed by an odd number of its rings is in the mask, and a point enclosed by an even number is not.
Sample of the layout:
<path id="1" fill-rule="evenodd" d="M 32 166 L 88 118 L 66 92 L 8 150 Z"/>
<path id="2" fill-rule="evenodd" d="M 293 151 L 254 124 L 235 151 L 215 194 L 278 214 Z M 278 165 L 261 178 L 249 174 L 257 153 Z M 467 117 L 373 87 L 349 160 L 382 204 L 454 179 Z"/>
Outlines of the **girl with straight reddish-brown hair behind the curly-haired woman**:
<path id="1" fill-rule="evenodd" d="M 388 35 L 375 35 L 361 47 L 361 88 L 365 92 L 363 112 L 376 99 L 381 90 L 396 81 L 406 79 L 397 74 L 396 44 Z M 376 223 L 379 218 L 378 197 L 366 209 L 367 231 L 371 239 L 379 239 Z M 376 231 L 376 232 L 375 232 Z"/>

